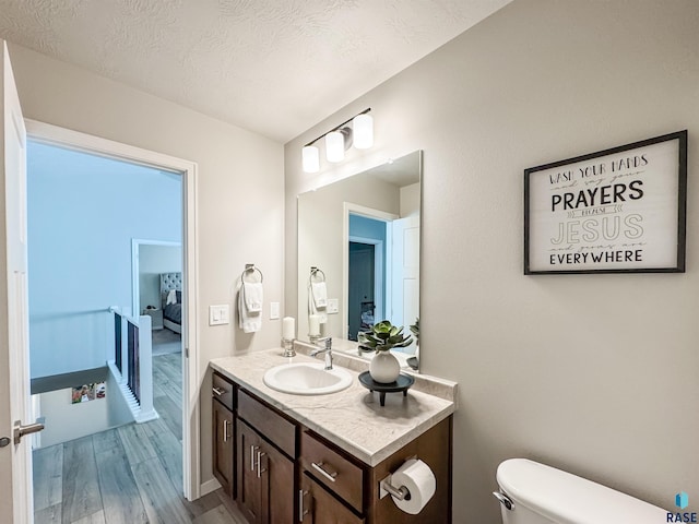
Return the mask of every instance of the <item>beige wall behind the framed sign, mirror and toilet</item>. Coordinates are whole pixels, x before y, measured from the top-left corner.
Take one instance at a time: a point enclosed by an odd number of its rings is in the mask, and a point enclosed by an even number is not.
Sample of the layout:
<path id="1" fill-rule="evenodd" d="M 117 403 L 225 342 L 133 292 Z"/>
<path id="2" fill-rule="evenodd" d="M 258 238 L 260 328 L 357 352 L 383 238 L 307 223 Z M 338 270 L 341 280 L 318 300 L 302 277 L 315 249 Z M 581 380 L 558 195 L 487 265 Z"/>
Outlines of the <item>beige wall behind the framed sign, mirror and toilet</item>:
<path id="1" fill-rule="evenodd" d="M 296 194 L 424 150 L 420 364 L 460 384 L 455 523 L 498 522 L 512 456 L 697 508 L 697 27 L 694 0 L 516 0 L 286 145 L 287 313 Z M 366 107 L 376 146 L 303 174 L 303 144 Z M 685 274 L 523 275 L 523 169 L 682 129 Z"/>

